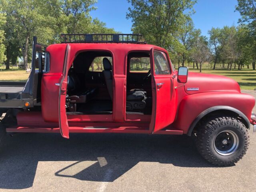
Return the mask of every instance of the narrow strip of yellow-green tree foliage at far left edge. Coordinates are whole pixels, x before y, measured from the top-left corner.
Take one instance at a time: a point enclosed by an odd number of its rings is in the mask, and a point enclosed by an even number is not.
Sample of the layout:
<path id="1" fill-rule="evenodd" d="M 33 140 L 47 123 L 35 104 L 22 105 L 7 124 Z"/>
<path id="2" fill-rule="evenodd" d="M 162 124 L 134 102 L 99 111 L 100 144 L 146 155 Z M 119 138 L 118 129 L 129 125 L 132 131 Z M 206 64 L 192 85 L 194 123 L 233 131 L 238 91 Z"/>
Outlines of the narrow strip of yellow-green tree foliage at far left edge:
<path id="1" fill-rule="evenodd" d="M 0 10 L 0 64 L 2 64 L 6 60 L 5 50 L 6 47 L 4 45 L 4 25 L 6 24 L 6 15 Z"/>

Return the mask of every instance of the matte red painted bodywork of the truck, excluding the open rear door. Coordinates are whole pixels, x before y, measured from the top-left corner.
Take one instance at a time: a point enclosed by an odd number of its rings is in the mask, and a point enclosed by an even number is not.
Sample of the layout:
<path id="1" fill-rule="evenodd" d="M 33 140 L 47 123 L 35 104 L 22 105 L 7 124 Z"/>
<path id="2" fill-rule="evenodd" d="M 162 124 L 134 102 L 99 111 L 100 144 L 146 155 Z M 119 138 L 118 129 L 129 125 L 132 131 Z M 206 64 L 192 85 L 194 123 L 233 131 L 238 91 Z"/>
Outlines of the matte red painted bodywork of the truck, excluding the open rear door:
<path id="1" fill-rule="evenodd" d="M 54 44 L 47 48 L 50 53 L 50 72 L 42 76 L 42 112 L 20 112 L 17 116 L 18 126 L 7 128 L 7 132 L 60 132 L 58 125 L 59 87 L 55 84 L 61 83 L 64 77 L 66 46 L 67 44 Z M 64 110 L 62 111 L 60 117 L 64 118 L 64 122 L 68 122 L 66 126 L 69 126 L 69 132 L 186 134 L 195 118 L 213 106 L 234 107 L 250 119 L 255 100 L 250 95 L 241 94 L 239 85 L 234 80 L 224 76 L 189 72 L 187 83 L 182 84 L 177 82 L 177 71 L 172 71 L 170 75 L 153 75 L 152 116 L 126 114 L 126 58 L 128 52 L 138 50 L 149 52 L 156 49 L 168 54 L 167 51 L 149 44 L 78 43 L 69 44 L 69 46 L 70 57 L 67 69 L 70 68 L 79 52 L 86 50 L 110 52 L 113 57 L 114 85 L 112 114 L 66 116 Z M 154 68 L 153 62 L 151 63 Z M 157 86 L 157 83 L 164 84 Z M 64 90 L 65 86 L 62 87 Z M 198 88 L 199 90 L 188 91 L 188 88 Z M 103 127 L 104 129 L 102 129 Z"/>

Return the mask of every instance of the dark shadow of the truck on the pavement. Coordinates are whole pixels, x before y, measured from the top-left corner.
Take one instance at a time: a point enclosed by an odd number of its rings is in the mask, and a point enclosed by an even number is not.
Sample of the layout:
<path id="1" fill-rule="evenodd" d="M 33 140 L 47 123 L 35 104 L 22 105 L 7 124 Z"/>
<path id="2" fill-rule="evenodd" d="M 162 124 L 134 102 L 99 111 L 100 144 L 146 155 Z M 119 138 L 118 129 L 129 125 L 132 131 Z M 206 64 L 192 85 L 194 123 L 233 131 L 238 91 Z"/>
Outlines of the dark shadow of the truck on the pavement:
<path id="1" fill-rule="evenodd" d="M 185 135 L 71 134 L 66 140 L 60 134 L 16 134 L 0 148 L 0 188 L 31 187 L 38 161 L 77 161 L 55 175 L 104 182 L 113 182 L 138 162 L 214 167 Z M 74 175 L 65 173 L 86 161 L 93 162 Z"/>

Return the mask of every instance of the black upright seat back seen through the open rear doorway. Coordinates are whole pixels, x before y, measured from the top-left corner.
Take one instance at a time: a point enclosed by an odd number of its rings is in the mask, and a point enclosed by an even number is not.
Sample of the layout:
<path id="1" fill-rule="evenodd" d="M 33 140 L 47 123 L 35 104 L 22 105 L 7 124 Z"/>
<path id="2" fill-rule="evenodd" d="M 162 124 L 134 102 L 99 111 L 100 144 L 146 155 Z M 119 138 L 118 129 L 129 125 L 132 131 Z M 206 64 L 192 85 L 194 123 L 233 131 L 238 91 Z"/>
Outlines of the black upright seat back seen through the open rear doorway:
<path id="1" fill-rule="evenodd" d="M 113 101 L 113 77 L 112 77 L 112 65 L 108 58 L 103 58 L 103 67 L 104 70 L 102 71 L 107 88 L 108 93 L 110 95 L 111 100 Z"/>

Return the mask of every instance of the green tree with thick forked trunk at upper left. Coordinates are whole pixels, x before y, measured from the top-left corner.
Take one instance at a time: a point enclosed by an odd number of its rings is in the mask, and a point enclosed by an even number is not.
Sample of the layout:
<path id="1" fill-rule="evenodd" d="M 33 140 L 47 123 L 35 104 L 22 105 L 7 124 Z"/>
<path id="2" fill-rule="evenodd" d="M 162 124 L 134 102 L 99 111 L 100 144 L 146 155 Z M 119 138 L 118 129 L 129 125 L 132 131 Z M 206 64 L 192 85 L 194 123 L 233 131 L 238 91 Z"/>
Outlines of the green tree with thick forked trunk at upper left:
<path id="1" fill-rule="evenodd" d="M 24 68 L 27 69 L 30 38 L 37 32 L 49 28 L 46 26 L 44 12 L 41 9 L 43 2 L 40 0 L 1 0 L 1 5 L 8 17 L 8 24 L 17 35 L 15 38 L 22 52 Z"/>

